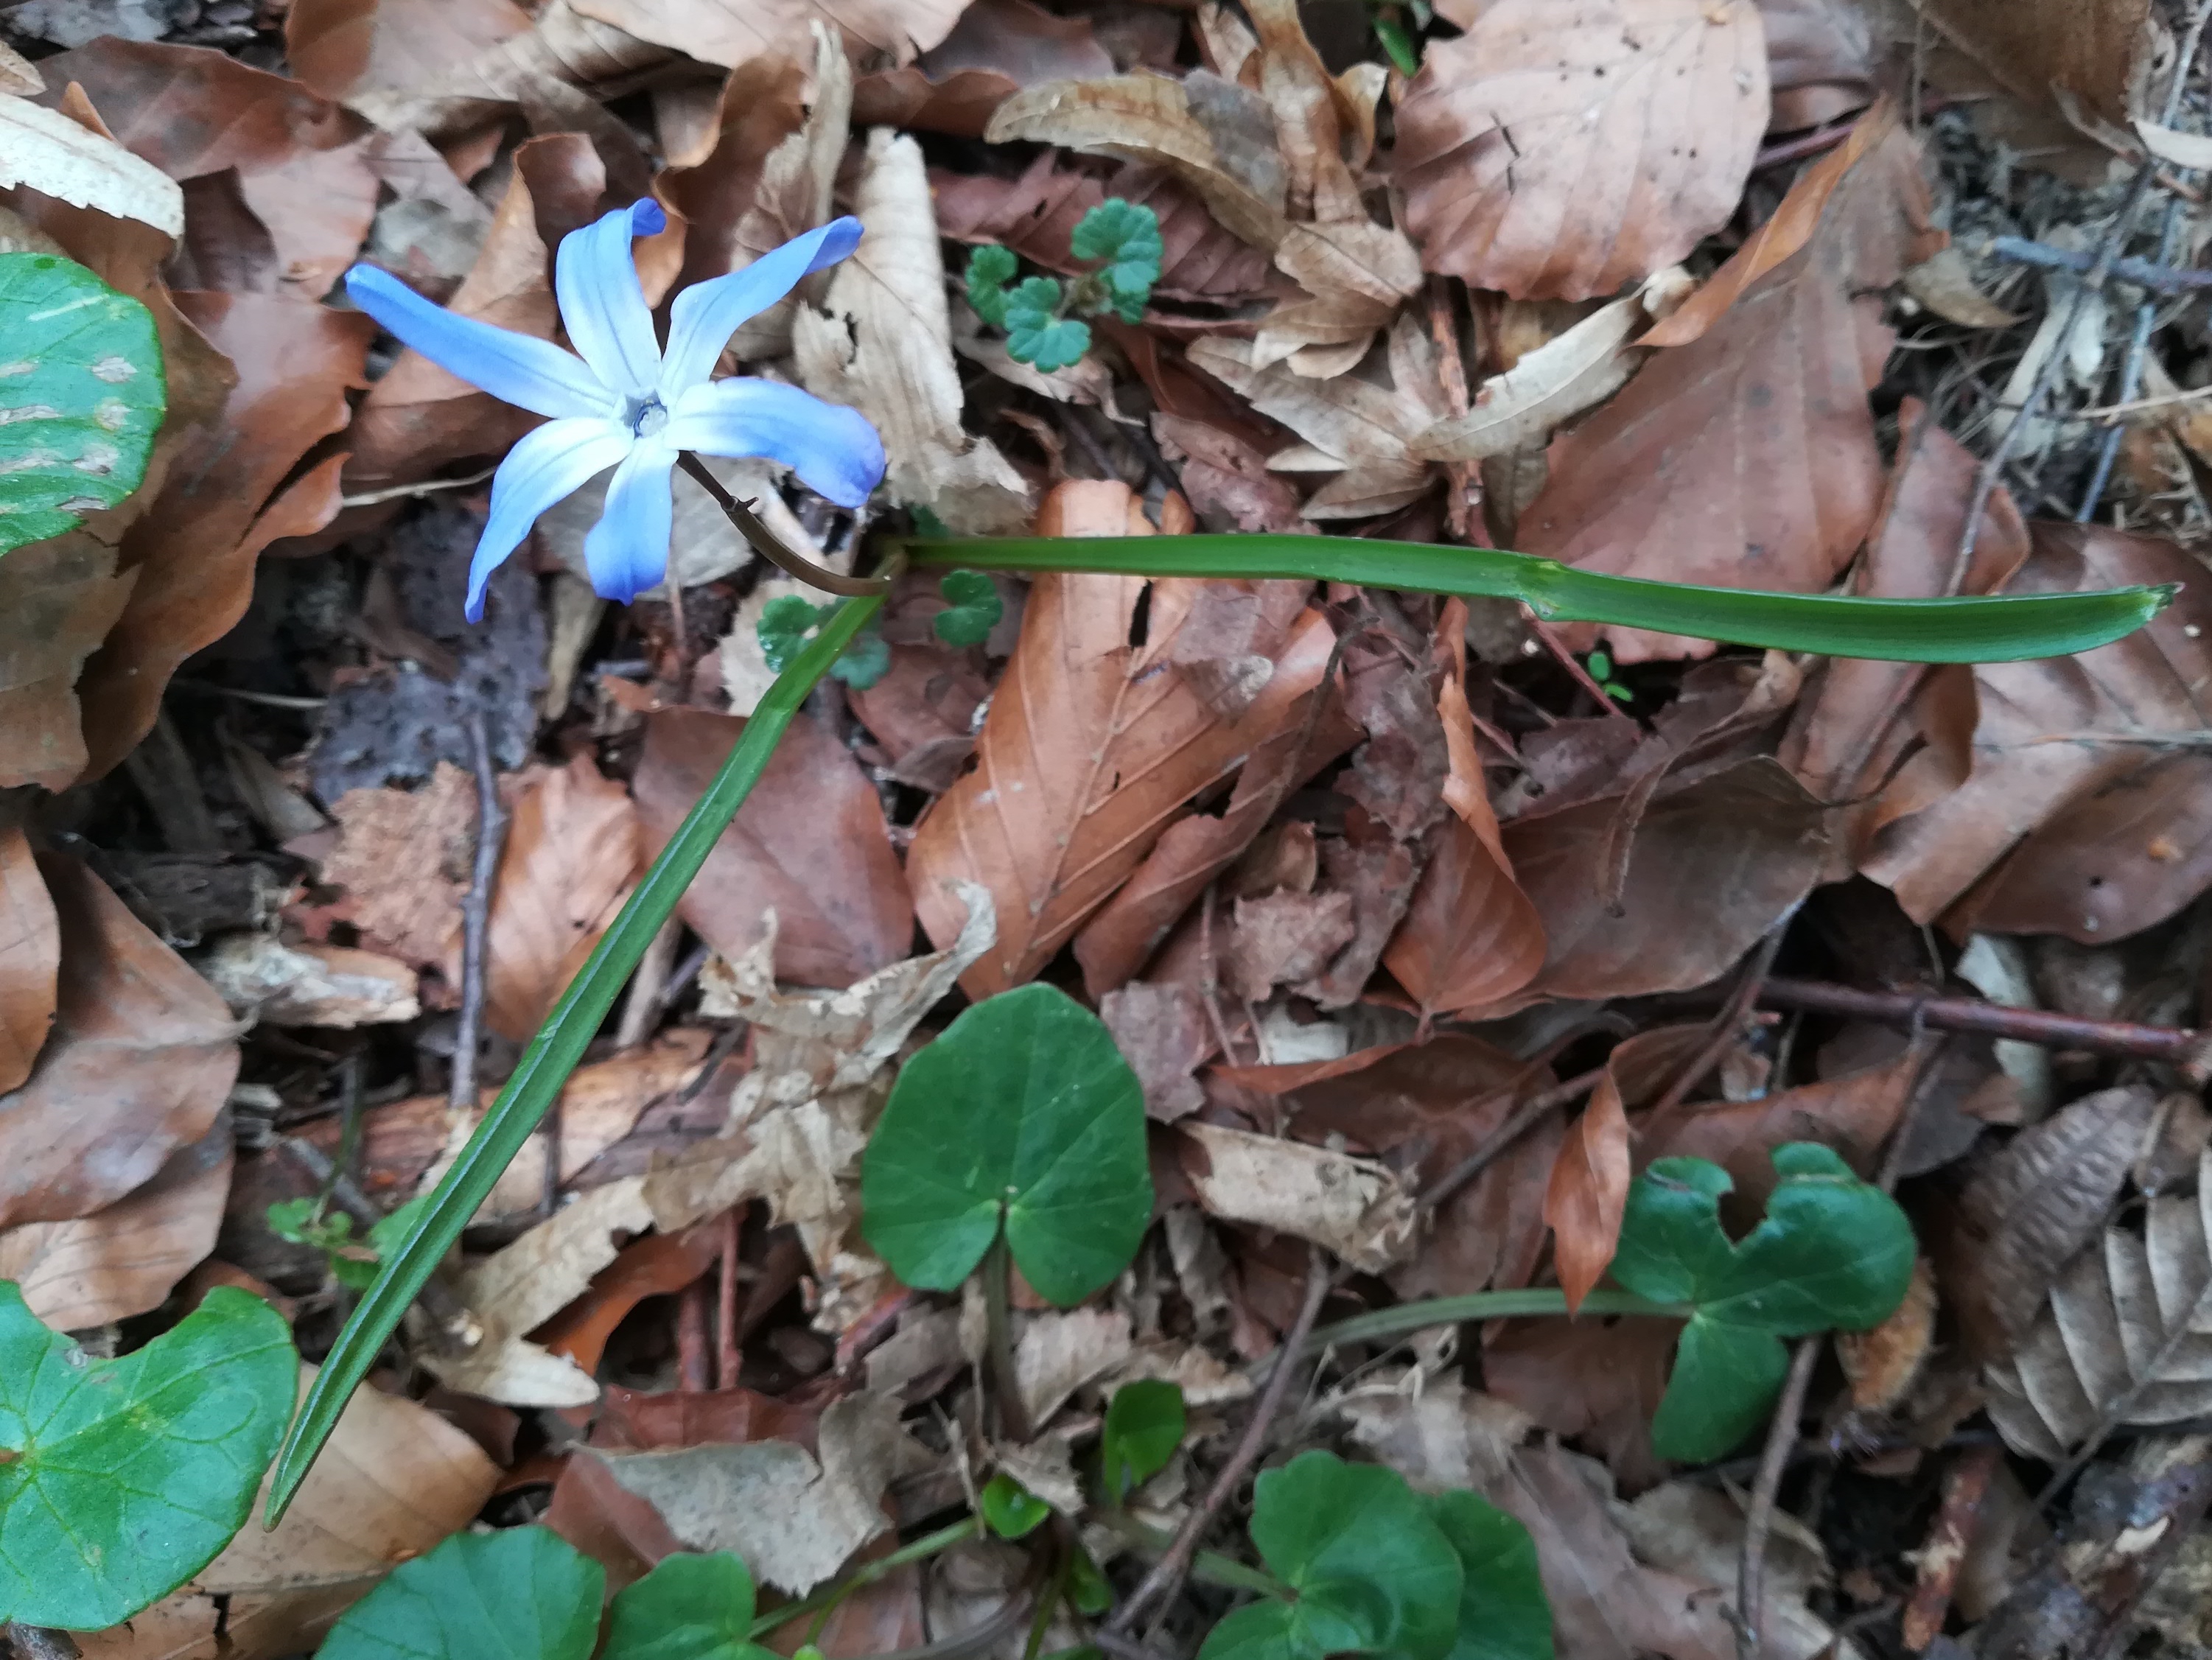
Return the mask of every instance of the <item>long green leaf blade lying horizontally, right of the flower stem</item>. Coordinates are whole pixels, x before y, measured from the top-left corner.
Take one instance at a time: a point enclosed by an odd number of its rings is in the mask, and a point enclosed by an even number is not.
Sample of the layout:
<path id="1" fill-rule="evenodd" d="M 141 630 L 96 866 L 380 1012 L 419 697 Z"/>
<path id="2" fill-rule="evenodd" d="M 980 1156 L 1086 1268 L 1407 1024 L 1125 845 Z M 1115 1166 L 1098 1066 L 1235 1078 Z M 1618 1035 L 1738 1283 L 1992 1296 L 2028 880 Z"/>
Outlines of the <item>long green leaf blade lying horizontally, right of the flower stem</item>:
<path id="1" fill-rule="evenodd" d="M 2172 587 L 1986 600 L 1756 593 L 1577 571 L 1557 560 L 1495 547 L 1371 542 L 1363 536 L 1009 536 L 902 538 L 900 544 L 922 569 L 1360 582 L 1469 600 L 1520 600 L 1546 622 L 1608 622 L 1739 646 L 1882 662 L 2066 657 L 2135 633 L 2174 598 Z"/>

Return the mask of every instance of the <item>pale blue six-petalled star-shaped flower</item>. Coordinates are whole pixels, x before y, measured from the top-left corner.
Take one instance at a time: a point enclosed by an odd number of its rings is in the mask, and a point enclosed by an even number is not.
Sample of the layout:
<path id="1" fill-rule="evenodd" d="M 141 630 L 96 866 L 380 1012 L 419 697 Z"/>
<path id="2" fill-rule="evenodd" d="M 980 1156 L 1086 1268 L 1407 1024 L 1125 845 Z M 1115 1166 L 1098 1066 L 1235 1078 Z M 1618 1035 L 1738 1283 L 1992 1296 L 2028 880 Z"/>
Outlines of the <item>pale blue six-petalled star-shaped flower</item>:
<path id="1" fill-rule="evenodd" d="M 838 507 L 858 507 L 883 483 L 883 438 L 858 409 L 776 381 L 710 378 L 737 325 L 849 255 L 860 221 L 836 219 L 745 270 L 692 283 L 670 308 L 664 350 L 630 237 L 666 224 L 657 201 L 639 201 L 562 237 L 553 292 L 575 352 L 431 305 L 374 266 L 345 272 L 354 303 L 403 343 L 491 396 L 549 416 L 491 478 L 491 516 L 469 560 L 469 622 L 484 615 L 484 584 L 538 516 L 608 467 L 615 478 L 584 538 L 584 564 L 591 584 L 622 602 L 668 573 L 668 469 L 684 449 L 779 460 Z"/>

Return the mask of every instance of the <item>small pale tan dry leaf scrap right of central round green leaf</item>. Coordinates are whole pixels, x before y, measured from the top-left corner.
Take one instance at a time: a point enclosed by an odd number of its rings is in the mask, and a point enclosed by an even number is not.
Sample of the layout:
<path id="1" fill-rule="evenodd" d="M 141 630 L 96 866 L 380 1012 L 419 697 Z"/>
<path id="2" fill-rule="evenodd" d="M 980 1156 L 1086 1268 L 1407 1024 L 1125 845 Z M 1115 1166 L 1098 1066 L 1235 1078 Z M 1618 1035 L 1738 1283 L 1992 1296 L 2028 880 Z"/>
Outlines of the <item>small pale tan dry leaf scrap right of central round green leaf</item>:
<path id="1" fill-rule="evenodd" d="M 1383 1164 L 1307 1142 L 1186 1120 L 1183 1180 L 1208 1215 L 1310 1239 L 1360 1273 L 1413 1248 L 1413 1195 Z"/>

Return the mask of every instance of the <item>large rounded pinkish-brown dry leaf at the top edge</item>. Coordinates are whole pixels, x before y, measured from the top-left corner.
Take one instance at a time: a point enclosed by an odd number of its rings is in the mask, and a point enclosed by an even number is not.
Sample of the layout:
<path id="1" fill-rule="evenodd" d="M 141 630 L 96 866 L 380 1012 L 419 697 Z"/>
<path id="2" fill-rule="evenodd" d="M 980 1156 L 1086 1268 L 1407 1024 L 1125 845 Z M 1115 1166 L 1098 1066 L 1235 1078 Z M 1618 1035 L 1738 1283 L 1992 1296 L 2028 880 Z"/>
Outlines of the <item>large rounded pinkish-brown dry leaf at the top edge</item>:
<path id="1" fill-rule="evenodd" d="M 1588 299 L 1728 224 L 1765 128 L 1752 0 L 1498 0 L 1429 44 L 1396 166 L 1429 270 Z"/>

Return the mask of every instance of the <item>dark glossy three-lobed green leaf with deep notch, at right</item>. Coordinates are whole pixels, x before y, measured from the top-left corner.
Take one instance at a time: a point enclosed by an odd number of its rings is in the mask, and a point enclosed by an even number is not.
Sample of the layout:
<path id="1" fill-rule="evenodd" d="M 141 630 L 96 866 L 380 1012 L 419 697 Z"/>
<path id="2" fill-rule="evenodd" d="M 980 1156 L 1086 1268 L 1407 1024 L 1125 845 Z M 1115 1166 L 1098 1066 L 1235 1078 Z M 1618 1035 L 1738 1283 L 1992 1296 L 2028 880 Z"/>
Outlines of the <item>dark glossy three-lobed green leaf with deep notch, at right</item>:
<path id="1" fill-rule="evenodd" d="M 1898 1202 L 1818 1142 L 1776 1147 L 1774 1171 L 1741 1242 L 1721 1228 L 1734 1182 L 1717 1164 L 1663 1158 L 1628 1189 L 1613 1277 L 1697 1310 L 1652 1419 L 1663 1459 L 1721 1459 L 1756 1430 L 1790 1370 L 1785 1337 L 1867 1330 L 1905 1301 L 1916 1246 Z"/>

